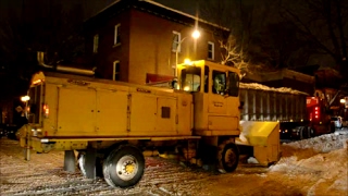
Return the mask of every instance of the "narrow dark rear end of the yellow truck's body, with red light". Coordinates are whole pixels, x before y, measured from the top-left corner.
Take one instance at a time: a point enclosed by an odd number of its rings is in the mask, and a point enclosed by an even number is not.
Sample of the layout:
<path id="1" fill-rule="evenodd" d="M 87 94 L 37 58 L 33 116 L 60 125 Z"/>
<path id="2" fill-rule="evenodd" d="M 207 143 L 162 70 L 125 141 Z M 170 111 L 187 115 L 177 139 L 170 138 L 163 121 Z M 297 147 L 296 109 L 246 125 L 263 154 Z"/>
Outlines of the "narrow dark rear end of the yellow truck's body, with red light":
<path id="1" fill-rule="evenodd" d="M 41 103 L 41 90 L 42 85 L 36 85 L 34 87 L 30 87 L 29 89 L 29 101 L 28 101 L 28 110 L 27 110 L 27 117 L 29 123 L 39 123 L 39 117 L 40 117 L 40 103 Z"/>

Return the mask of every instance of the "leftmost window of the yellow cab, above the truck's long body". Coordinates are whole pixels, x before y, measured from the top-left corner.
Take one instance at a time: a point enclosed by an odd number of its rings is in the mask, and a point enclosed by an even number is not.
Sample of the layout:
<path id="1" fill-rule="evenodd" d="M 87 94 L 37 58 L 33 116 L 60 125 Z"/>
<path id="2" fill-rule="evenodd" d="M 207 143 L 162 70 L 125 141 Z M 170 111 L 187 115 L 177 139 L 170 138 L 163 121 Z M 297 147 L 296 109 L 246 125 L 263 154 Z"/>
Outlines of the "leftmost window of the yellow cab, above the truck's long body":
<path id="1" fill-rule="evenodd" d="M 179 89 L 185 91 L 200 90 L 200 75 L 201 69 L 196 66 L 188 66 L 182 70 Z"/>

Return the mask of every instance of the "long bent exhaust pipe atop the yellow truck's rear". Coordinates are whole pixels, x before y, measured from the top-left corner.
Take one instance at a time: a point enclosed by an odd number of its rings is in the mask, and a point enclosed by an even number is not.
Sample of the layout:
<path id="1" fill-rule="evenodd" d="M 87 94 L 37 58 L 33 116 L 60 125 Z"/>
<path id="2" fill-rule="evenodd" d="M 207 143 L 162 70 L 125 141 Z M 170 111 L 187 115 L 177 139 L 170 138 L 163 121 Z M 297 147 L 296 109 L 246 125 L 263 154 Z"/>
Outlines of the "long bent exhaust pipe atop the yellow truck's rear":
<path id="1" fill-rule="evenodd" d="M 92 70 L 84 70 L 84 69 L 77 69 L 77 68 L 71 68 L 71 66 L 62 66 L 59 64 L 58 65 L 45 64 L 45 52 L 42 52 L 42 51 L 37 52 L 37 61 L 40 66 L 51 69 L 51 70 L 57 70 L 60 72 L 73 73 L 73 74 L 92 76 L 92 75 L 95 75 L 95 70 L 96 70 L 96 68 L 94 68 Z"/>

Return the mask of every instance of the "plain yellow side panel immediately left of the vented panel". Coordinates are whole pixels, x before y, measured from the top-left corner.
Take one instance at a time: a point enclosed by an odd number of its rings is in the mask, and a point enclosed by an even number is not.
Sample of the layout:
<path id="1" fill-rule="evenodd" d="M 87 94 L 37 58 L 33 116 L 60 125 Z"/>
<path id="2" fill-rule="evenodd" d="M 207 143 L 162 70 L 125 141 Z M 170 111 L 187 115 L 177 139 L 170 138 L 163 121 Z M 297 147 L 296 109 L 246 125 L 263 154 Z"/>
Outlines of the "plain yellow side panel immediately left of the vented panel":
<path id="1" fill-rule="evenodd" d="M 133 93 L 129 135 L 157 135 L 156 121 L 157 97 L 145 93 Z"/>

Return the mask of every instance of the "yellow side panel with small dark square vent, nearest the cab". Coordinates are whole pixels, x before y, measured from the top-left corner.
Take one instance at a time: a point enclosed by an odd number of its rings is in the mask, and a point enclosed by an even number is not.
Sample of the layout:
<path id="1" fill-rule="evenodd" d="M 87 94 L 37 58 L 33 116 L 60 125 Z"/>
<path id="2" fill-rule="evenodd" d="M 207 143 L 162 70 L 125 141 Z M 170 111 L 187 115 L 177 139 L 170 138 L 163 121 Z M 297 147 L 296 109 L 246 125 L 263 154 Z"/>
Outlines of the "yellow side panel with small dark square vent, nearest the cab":
<path id="1" fill-rule="evenodd" d="M 156 123 L 156 131 L 157 132 L 172 132 L 173 135 L 176 135 L 176 102 L 177 99 L 174 98 L 165 98 L 159 97 L 157 103 L 157 123 Z M 170 108 L 170 117 L 163 118 L 162 117 L 162 107 Z M 160 134 L 160 133 L 159 133 Z M 172 135 L 171 134 L 171 135 Z"/>

